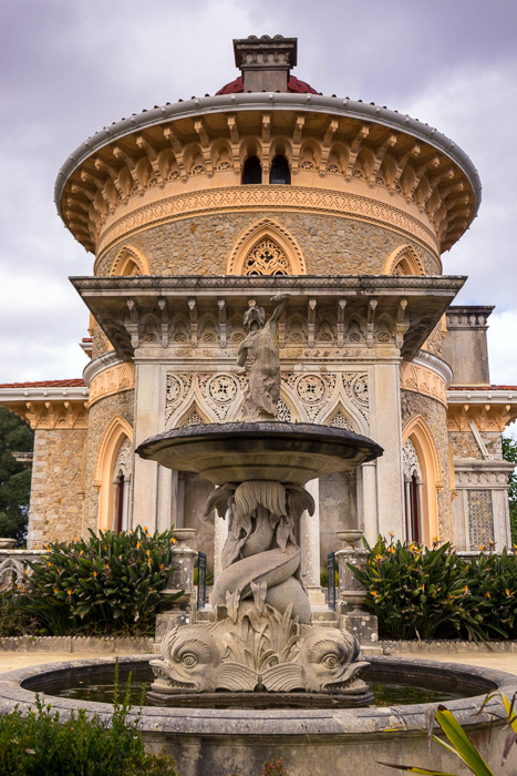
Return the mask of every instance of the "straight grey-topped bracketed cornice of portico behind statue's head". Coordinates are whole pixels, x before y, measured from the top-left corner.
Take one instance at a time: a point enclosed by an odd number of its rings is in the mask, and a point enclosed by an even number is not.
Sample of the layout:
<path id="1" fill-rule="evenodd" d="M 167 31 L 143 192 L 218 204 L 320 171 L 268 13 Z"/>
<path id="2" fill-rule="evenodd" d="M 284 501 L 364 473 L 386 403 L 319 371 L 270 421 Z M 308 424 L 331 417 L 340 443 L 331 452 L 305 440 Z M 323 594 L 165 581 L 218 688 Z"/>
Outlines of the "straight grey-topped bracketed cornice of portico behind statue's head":
<path id="1" fill-rule="evenodd" d="M 200 348 L 228 358 L 245 336 L 248 303 L 255 299 L 270 308 L 278 293 L 291 295 L 286 328 L 300 328 L 293 337 L 280 334 L 287 347 L 292 349 L 296 341 L 298 349 L 316 355 L 319 345 L 338 356 L 366 348 L 372 358 L 402 355 L 411 360 L 464 278 L 228 275 L 77 277 L 72 283 L 123 360 L 131 360 L 135 348 L 151 349 L 148 357 L 151 351 L 157 357 L 162 348 L 174 350 L 175 357 L 197 358 Z"/>

